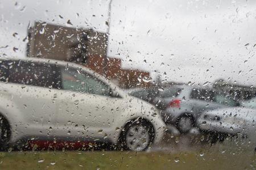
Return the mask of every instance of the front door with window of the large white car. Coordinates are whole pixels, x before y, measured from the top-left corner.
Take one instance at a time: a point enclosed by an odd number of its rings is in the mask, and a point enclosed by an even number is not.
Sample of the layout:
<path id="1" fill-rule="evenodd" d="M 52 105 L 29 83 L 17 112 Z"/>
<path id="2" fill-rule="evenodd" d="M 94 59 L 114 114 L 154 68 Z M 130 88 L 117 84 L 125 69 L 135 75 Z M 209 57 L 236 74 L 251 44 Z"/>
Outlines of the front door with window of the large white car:
<path id="1" fill-rule="evenodd" d="M 61 136 L 104 138 L 121 112 L 121 97 L 112 97 L 107 83 L 79 68 L 60 67 L 60 73 L 57 122 Z"/>

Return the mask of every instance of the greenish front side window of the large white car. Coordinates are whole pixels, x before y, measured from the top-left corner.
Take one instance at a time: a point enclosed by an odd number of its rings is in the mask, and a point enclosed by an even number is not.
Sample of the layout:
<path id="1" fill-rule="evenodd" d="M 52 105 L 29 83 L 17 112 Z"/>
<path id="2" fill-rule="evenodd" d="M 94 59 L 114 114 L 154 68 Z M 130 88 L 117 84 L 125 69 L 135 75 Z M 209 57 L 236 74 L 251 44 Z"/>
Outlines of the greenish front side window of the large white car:
<path id="1" fill-rule="evenodd" d="M 63 90 L 111 96 L 111 89 L 108 84 L 88 73 L 72 68 L 61 69 L 61 84 Z"/>

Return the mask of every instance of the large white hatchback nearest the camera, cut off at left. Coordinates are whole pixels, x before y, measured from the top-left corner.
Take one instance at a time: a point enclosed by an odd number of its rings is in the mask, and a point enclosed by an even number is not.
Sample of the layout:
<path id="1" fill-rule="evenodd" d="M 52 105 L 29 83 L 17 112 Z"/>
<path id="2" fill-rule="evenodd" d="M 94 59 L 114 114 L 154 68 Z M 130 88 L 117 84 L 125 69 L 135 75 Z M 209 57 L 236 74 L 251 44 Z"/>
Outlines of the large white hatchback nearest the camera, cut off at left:
<path id="1" fill-rule="evenodd" d="M 75 63 L 0 61 L 0 145 L 17 141 L 103 141 L 142 151 L 166 125 L 150 104 Z"/>

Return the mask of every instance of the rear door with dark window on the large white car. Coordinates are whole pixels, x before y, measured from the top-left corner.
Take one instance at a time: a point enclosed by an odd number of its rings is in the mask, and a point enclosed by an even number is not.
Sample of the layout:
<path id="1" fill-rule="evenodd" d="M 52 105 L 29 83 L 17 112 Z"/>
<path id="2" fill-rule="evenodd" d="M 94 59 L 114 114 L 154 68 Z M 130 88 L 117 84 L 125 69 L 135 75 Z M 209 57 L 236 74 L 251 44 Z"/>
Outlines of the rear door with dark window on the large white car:
<path id="1" fill-rule="evenodd" d="M 53 137 L 56 125 L 55 84 L 49 63 L 13 61 L 9 63 L 7 92 L 18 115 L 18 131 L 27 137 Z"/>

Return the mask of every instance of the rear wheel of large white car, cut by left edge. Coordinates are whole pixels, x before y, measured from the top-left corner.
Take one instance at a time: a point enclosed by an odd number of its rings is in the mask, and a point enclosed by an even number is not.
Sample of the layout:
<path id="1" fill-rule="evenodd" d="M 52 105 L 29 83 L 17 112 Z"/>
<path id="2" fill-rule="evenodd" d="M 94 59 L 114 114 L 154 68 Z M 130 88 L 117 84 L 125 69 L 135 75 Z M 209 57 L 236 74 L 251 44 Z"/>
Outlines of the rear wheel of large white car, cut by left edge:
<path id="1" fill-rule="evenodd" d="M 9 122 L 0 115 L 0 150 L 7 150 L 10 140 L 11 130 Z"/>

